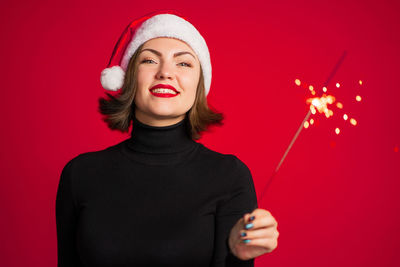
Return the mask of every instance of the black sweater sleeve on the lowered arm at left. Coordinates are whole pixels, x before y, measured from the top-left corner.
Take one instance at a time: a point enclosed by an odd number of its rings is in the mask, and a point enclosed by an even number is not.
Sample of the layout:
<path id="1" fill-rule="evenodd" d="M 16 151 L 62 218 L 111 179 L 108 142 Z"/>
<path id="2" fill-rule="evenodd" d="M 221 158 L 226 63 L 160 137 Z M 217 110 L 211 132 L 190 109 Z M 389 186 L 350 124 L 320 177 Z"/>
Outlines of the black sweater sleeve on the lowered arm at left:
<path id="1" fill-rule="evenodd" d="M 81 266 L 76 249 L 78 209 L 72 190 L 73 160 L 63 168 L 56 196 L 58 267 Z"/>

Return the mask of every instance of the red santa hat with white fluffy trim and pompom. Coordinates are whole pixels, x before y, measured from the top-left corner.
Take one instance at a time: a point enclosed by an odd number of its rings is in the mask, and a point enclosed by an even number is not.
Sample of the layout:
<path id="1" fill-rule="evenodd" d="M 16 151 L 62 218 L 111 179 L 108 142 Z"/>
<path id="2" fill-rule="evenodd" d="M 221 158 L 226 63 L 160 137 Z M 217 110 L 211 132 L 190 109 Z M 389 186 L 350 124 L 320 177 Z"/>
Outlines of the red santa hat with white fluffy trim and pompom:
<path id="1" fill-rule="evenodd" d="M 211 85 L 211 60 L 207 44 L 198 30 L 176 11 L 153 12 L 129 23 L 114 47 L 107 68 L 101 72 L 104 89 L 117 91 L 124 84 L 129 60 L 137 48 L 156 37 L 172 37 L 187 43 L 203 70 L 205 94 Z"/>

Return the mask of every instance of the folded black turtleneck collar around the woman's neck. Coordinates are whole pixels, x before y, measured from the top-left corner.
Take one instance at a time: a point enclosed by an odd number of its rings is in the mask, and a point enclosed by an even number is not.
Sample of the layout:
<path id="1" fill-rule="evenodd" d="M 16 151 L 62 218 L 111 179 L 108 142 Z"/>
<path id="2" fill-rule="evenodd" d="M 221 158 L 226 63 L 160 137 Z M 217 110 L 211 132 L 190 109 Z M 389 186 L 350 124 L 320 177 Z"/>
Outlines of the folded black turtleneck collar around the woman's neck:
<path id="1" fill-rule="evenodd" d="M 187 116 L 168 126 L 147 125 L 134 116 L 131 137 L 127 141 L 130 149 L 146 154 L 177 153 L 197 144 L 189 135 Z"/>

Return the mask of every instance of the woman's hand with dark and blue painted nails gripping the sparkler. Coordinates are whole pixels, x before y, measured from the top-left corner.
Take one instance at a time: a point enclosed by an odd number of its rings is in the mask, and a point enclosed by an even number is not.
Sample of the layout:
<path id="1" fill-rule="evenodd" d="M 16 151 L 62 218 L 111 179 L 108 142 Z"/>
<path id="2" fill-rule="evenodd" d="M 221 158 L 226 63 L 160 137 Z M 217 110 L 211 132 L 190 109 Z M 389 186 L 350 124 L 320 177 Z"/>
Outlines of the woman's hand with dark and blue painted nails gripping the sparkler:
<path id="1" fill-rule="evenodd" d="M 229 248 L 241 260 L 271 252 L 278 246 L 277 227 L 278 222 L 269 211 L 255 209 L 246 213 L 233 226 L 229 235 Z"/>

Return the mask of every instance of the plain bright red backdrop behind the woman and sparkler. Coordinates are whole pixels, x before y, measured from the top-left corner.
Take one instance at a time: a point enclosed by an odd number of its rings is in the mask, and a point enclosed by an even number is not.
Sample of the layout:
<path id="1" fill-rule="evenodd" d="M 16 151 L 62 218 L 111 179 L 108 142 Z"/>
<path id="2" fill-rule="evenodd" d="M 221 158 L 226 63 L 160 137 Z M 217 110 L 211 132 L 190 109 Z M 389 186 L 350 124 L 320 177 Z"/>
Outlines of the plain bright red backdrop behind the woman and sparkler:
<path id="1" fill-rule="evenodd" d="M 399 266 L 398 2 L 145 2 L 1 3 L 1 265 L 56 265 L 63 166 L 129 137 L 101 121 L 100 72 L 132 19 L 176 9 L 207 41 L 226 116 L 199 142 L 242 159 L 258 195 L 307 112 L 294 80 L 320 88 L 347 51 L 328 89 L 358 125 L 303 129 L 260 203 L 280 236 L 256 266 Z"/>

